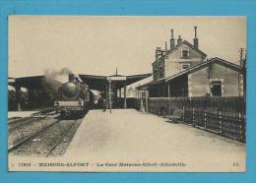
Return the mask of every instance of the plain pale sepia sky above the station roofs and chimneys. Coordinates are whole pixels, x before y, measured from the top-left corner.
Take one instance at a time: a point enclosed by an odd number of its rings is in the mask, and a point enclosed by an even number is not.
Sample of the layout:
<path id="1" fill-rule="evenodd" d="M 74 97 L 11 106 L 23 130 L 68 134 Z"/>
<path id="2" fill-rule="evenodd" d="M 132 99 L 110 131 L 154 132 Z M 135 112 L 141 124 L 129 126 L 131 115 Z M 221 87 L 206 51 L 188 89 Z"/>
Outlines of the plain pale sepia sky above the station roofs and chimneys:
<path id="1" fill-rule="evenodd" d="M 156 47 L 181 37 L 208 58 L 238 64 L 246 48 L 246 17 L 10 16 L 9 77 L 43 75 L 69 68 L 77 74 L 152 73 Z"/>

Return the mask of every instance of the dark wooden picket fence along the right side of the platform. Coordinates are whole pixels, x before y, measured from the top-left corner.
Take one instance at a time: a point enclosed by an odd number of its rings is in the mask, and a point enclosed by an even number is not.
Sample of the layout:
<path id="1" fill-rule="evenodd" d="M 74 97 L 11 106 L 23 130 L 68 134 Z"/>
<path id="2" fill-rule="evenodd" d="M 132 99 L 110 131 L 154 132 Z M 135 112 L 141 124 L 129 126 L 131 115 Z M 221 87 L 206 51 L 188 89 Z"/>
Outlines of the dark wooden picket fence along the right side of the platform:
<path id="1" fill-rule="evenodd" d="M 245 143 L 243 97 L 149 97 L 148 103 L 150 113 L 165 116 L 179 108 L 181 122 Z"/>

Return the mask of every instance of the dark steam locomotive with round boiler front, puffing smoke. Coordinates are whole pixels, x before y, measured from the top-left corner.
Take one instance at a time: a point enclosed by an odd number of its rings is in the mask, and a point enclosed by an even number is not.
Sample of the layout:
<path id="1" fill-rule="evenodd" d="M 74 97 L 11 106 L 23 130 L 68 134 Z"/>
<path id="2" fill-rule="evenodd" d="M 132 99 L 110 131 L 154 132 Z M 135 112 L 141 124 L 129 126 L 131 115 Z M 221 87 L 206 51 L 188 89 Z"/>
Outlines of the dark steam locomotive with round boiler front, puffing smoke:
<path id="1" fill-rule="evenodd" d="M 94 94 L 89 86 L 81 82 L 74 74 L 69 75 L 69 82 L 58 89 L 54 101 L 54 109 L 61 116 L 81 116 L 85 114 L 94 102 Z"/>

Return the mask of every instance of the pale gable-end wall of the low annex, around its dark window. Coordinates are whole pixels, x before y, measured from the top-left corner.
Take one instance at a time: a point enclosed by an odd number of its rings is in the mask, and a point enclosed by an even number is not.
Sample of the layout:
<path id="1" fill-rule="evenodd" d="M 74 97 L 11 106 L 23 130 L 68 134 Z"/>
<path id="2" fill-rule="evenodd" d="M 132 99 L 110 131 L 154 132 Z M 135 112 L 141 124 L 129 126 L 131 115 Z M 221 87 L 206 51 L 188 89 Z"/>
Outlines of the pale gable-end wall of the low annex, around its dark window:
<path id="1" fill-rule="evenodd" d="M 209 67 L 207 67 L 188 75 L 188 95 L 204 96 L 207 93 L 211 94 L 210 82 L 221 81 L 223 96 L 238 96 L 241 94 L 238 77 L 238 72 L 215 63 L 210 67 L 210 73 Z"/>

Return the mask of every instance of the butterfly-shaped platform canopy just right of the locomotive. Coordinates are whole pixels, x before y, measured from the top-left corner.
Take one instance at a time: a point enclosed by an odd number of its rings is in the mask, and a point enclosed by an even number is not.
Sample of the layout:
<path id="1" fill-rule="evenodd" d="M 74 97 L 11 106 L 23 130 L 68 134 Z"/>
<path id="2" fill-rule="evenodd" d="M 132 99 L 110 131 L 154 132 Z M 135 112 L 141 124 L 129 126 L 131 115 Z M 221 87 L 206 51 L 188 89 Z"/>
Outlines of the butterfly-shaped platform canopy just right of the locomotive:
<path id="1" fill-rule="evenodd" d="M 152 74 L 141 74 L 141 75 L 111 75 L 111 76 L 95 76 L 95 75 L 82 75 L 79 74 L 79 78 L 87 85 L 91 90 L 104 91 L 109 81 L 115 86 L 116 90 L 122 89 L 126 86 L 134 84 L 138 81 L 150 77 Z"/>

